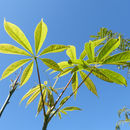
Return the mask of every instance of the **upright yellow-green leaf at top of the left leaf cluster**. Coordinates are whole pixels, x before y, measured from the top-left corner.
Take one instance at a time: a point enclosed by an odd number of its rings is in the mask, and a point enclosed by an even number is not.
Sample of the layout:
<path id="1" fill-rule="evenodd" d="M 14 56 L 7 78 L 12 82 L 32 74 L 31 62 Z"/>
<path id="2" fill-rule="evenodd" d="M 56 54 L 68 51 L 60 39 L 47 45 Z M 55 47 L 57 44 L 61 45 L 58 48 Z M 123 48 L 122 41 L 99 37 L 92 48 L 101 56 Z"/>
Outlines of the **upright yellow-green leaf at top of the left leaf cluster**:
<path id="1" fill-rule="evenodd" d="M 47 35 L 47 26 L 43 22 L 43 19 L 39 24 L 37 25 L 35 32 L 34 32 L 34 37 L 35 37 L 35 51 L 36 55 L 38 54 L 39 50 L 42 47 L 42 44 L 46 38 Z"/>

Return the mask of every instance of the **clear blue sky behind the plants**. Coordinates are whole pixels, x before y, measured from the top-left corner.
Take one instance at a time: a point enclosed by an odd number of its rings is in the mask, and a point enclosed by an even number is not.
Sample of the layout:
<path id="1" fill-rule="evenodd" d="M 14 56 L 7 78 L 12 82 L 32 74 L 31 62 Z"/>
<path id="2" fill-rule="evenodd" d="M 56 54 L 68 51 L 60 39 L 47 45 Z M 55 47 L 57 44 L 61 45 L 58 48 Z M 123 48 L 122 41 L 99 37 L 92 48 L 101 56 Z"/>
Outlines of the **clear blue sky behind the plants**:
<path id="1" fill-rule="evenodd" d="M 84 43 L 89 41 L 90 35 L 96 34 L 101 27 L 120 32 L 125 38 L 130 38 L 129 5 L 129 0 L 0 0 L 0 43 L 18 45 L 4 30 L 5 18 L 23 30 L 34 49 L 34 30 L 43 18 L 48 27 L 43 48 L 51 44 L 74 45 L 77 49 L 77 57 L 79 57 Z M 45 57 L 56 62 L 68 60 L 65 52 Z M 0 75 L 9 64 L 19 58 L 21 56 L 0 54 Z M 49 75 L 45 72 L 47 67 L 41 62 L 39 66 L 42 82 L 48 79 L 53 82 L 55 74 Z M 128 81 L 128 87 L 106 83 L 91 75 L 98 97 L 82 85 L 76 100 L 72 97 L 66 104 L 66 106 L 80 107 L 82 111 L 68 112 L 67 115 L 62 115 L 61 120 L 54 117 L 48 130 L 115 129 L 116 122 L 119 120 L 118 110 L 124 106 L 130 108 L 130 80 L 127 78 L 126 69 L 108 68 L 122 74 Z M 12 74 L 0 81 L 0 107 L 8 95 L 10 80 L 15 79 L 15 76 Z M 64 87 L 69 76 L 61 78 L 57 85 Z M 27 108 L 25 107 L 27 100 L 19 104 L 23 95 L 37 82 L 36 69 L 34 69 L 27 84 L 17 89 L 11 98 L 0 119 L 0 130 L 41 130 L 43 113 L 41 112 L 36 117 L 39 98 Z M 71 89 L 65 95 L 70 91 Z M 121 128 L 122 130 L 130 129 L 127 124 Z"/>

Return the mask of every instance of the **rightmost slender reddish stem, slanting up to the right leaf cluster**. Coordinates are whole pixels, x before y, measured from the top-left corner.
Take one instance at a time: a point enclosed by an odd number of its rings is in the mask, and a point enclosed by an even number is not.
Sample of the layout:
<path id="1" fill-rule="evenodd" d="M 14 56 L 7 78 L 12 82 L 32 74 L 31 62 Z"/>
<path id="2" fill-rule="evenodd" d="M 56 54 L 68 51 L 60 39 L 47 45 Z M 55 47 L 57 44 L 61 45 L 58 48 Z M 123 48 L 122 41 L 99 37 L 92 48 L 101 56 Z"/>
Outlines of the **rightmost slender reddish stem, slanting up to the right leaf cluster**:
<path id="1" fill-rule="evenodd" d="M 81 87 L 81 85 L 89 77 L 89 75 L 92 73 L 92 71 L 93 71 L 93 69 L 89 72 L 89 74 L 85 77 L 85 79 L 78 85 L 78 87 L 70 94 L 69 98 L 67 98 L 67 100 L 61 106 L 59 106 L 59 108 L 57 108 L 57 110 L 50 116 L 49 121 L 60 110 L 60 108 L 75 94 L 75 92 Z"/>

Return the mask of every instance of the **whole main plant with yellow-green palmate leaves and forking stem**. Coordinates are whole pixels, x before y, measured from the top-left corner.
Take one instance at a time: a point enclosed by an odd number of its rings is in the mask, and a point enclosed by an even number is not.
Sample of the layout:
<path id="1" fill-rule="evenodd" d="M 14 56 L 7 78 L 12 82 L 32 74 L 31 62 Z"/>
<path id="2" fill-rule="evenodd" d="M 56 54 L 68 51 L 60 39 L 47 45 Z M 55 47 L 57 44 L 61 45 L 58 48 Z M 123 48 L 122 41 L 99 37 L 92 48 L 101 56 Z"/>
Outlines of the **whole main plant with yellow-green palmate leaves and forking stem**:
<path id="1" fill-rule="evenodd" d="M 96 87 L 89 77 L 90 74 L 93 74 L 94 76 L 106 82 L 127 86 L 127 81 L 121 74 L 106 68 L 102 68 L 106 64 L 130 64 L 130 51 L 113 54 L 113 51 L 120 45 L 120 37 L 110 38 L 109 40 L 106 40 L 107 37 L 105 37 L 95 41 L 86 42 L 83 52 L 80 54 L 79 58 L 77 58 L 76 48 L 73 45 L 65 46 L 54 44 L 39 52 L 47 35 L 47 26 L 43 20 L 40 21 L 34 32 L 35 52 L 32 51 L 32 47 L 28 39 L 19 27 L 7 22 L 6 20 L 4 21 L 4 27 L 9 36 L 19 43 L 24 49 L 20 49 L 11 44 L 0 44 L 0 53 L 24 55 L 27 56 L 27 58 L 21 59 L 9 65 L 3 72 L 1 79 L 8 77 L 24 64 L 28 63 L 27 67 L 24 68 L 19 84 L 20 86 L 25 86 L 26 82 L 31 77 L 33 70 L 35 70 L 34 63 L 36 64 L 37 78 L 39 83 L 23 96 L 21 102 L 27 97 L 30 97 L 27 101 L 27 105 L 29 105 L 40 94 L 37 115 L 43 110 L 44 121 L 42 130 L 47 129 L 48 123 L 51 121 L 54 115 L 57 114 L 59 118 L 61 118 L 61 113 L 67 114 L 67 111 L 81 110 L 80 108 L 74 106 L 64 108 L 64 104 L 73 95 L 76 96 L 77 90 L 83 83 L 92 93 L 97 96 Z M 66 50 L 66 54 L 70 58 L 69 61 L 61 61 L 60 63 L 56 63 L 52 59 L 42 58 L 42 56 L 45 54 L 62 52 L 64 50 Z M 56 76 L 56 81 L 52 86 L 48 85 L 47 82 L 41 82 L 41 71 L 39 70 L 38 66 L 40 61 L 47 65 L 49 69 L 52 70 L 52 73 L 59 72 Z M 62 76 L 66 76 L 69 73 L 70 80 L 66 81 L 65 87 L 61 89 L 62 91 L 59 91 L 60 88 L 58 89 L 56 87 L 58 79 L 60 79 Z M 81 82 L 78 80 L 78 73 L 82 78 Z M 64 97 L 63 94 L 66 92 L 69 85 L 72 86 L 73 91 L 70 92 L 68 96 Z"/>

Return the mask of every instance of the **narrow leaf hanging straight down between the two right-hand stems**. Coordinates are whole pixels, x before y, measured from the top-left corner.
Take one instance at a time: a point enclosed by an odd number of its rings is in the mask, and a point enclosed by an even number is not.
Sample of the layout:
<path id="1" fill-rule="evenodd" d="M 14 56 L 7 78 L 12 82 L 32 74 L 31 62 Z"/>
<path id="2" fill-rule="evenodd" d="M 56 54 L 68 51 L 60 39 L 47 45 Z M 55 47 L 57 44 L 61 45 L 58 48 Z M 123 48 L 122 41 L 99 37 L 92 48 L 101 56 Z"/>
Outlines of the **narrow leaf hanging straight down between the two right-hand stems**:
<path id="1" fill-rule="evenodd" d="M 74 72 L 73 78 L 72 78 L 72 90 L 73 90 L 73 92 L 77 88 L 78 88 L 78 75 L 77 75 L 77 72 Z M 77 94 L 77 91 L 74 93 L 75 97 L 76 97 L 76 94 Z"/>

